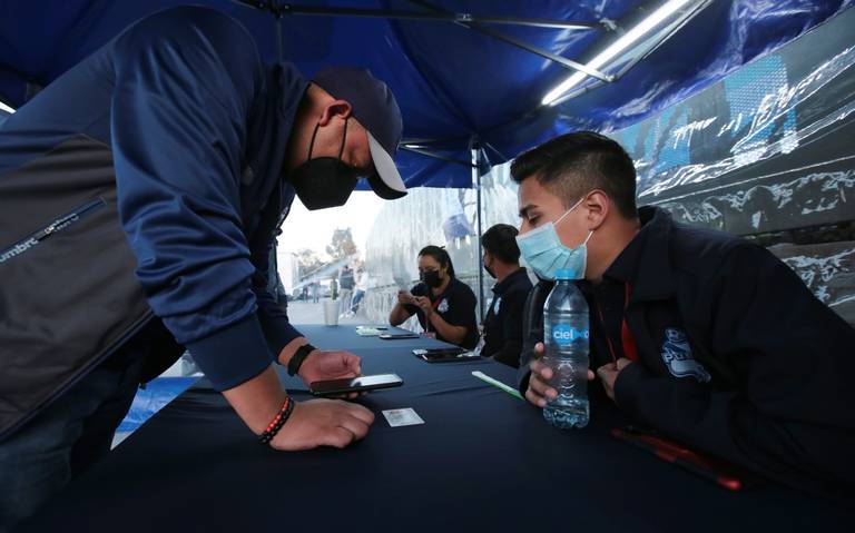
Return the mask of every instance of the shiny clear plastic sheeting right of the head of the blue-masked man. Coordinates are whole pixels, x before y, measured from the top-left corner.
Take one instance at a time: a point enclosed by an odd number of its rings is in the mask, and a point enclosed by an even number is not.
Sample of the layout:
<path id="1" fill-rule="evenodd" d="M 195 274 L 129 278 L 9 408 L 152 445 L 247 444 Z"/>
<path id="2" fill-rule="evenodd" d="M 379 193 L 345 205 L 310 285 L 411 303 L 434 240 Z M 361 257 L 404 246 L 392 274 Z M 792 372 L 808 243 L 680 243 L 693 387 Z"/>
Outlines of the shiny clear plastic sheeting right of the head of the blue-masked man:
<path id="1" fill-rule="evenodd" d="M 739 235 L 855 218 L 855 12 L 610 134 L 640 204 Z"/>

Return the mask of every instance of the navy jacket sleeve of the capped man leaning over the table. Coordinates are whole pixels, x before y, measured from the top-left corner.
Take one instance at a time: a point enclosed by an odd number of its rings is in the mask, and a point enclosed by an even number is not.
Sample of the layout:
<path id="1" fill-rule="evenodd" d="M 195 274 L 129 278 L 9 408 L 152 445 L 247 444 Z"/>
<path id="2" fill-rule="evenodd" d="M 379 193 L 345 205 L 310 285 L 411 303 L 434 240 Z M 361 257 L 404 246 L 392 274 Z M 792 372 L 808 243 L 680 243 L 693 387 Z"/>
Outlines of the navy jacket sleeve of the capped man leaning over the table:
<path id="1" fill-rule="evenodd" d="M 208 378 L 230 388 L 273 358 L 238 179 L 261 61 L 239 24 L 197 8 L 150 17 L 114 47 L 111 140 L 137 276 Z"/>

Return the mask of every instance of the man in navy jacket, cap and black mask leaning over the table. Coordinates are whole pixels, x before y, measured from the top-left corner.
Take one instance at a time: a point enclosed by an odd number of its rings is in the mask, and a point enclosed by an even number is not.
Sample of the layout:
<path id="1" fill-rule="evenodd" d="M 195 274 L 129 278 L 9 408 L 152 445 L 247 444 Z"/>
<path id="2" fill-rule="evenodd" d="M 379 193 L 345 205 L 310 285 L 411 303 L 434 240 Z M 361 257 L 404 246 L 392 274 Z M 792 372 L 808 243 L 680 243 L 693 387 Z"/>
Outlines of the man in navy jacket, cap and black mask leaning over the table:
<path id="1" fill-rule="evenodd" d="M 106 453 L 136 385 L 183 346 L 277 450 L 365 436 L 373 415 L 360 405 L 291 411 L 274 362 L 308 383 L 358 375 L 360 359 L 288 324 L 267 265 L 295 195 L 338 206 L 361 177 L 384 198 L 405 195 L 391 157 L 401 132 L 392 93 L 366 70 L 309 83 L 263 65 L 239 23 L 203 8 L 135 23 L 11 116 L 0 130 L 0 525 Z M 277 413 L 291 413 L 281 427 Z"/>

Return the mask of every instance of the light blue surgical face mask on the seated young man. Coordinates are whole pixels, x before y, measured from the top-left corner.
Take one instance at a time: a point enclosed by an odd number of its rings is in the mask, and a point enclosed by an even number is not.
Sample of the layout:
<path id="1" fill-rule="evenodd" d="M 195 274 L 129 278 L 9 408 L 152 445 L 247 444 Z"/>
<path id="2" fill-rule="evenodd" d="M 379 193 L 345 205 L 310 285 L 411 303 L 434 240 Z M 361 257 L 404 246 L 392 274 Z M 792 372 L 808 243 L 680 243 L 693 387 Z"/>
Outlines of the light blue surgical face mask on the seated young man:
<path id="1" fill-rule="evenodd" d="M 520 247 L 520 254 L 539 278 L 554 280 L 556 273 L 560 269 L 570 270 L 571 279 L 582 279 L 584 277 L 584 269 L 588 266 L 588 240 L 591 239 L 593 230 L 588 234 L 584 243 L 576 248 L 568 248 L 561 244 L 561 239 L 556 231 L 556 225 L 563 220 L 570 211 L 579 207 L 582 199 L 564 211 L 554 223 L 547 223 L 537 229 L 517 236 L 517 246 Z"/>

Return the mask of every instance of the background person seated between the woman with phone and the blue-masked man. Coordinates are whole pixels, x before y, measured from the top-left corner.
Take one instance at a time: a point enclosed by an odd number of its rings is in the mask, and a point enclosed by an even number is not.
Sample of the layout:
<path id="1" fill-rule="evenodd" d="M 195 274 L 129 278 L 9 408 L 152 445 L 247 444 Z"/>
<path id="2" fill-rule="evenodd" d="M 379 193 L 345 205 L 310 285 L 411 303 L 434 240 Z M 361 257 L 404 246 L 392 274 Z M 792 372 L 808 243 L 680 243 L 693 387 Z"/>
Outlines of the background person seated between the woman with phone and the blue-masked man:
<path id="1" fill-rule="evenodd" d="M 522 314 L 531 282 L 520 267 L 517 228 L 497 224 L 481 236 L 484 270 L 495 279 L 493 300 L 484 317 L 484 345 L 481 355 L 499 363 L 520 366 Z"/>

